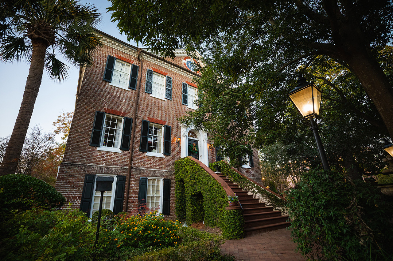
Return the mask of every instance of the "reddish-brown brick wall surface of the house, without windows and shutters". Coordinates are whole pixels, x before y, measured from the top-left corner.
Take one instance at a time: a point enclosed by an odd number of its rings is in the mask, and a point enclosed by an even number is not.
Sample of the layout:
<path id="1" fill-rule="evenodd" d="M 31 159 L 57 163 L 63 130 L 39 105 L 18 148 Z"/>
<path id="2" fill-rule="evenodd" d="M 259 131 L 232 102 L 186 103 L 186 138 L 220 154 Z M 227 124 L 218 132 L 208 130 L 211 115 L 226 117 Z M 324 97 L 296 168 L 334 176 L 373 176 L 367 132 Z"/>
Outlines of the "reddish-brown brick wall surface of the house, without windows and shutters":
<path id="1" fill-rule="evenodd" d="M 146 54 L 141 55 L 143 68 L 136 56 L 119 51 L 108 45 L 104 45 L 101 50 L 94 54 L 92 66 L 86 68 L 83 82 L 75 106 L 75 113 L 72 120 L 70 134 L 57 178 L 56 189 L 59 190 L 74 207 L 79 208 L 84 176 L 85 174 L 112 173 L 127 176 L 130 151 L 122 150 L 121 153 L 97 150 L 97 147 L 90 146 L 95 111 L 104 112 L 104 108 L 127 113 L 125 116 L 133 118 L 136 106 L 136 90 L 121 89 L 110 85 L 103 80 L 103 74 L 107 57 L 121 56 L 124 60 L 139 66 L 138 84 L 141 75 L 140 97 L 137 109 L 137 116 L 133 119 L 136 122 L 135 136 L 133 141 L 133 157 L 130 184 L 126 183 L 126 188 L 130 187 L 129 210 L 136 210 L 138 201 L 138 186 L 140 177 L 162 177 L 171 179 L 171 214 L 174 218 L 174 161 L 180 158 L 180 147 L 176 143 L 176 137 L 180 136 L 180 126 L 177 118 L 183 116 L 188 109 L 182 105 L 182 83 L 192 82 L 192 76 L 180 74 L 177 68 L 170 69 L 171 66 L 162 64 L 160 61 L 152 62 Z M 136 54 L 135 54 L 136 55 Z M 184 57 L 176 57 L 172 62 L 183 65 Z M 158 64 L 160 63 L 160 64 Z M 147 69 L 152 67 L 167 73 L 172 77 L 172 100 L 160 100 L 145 93 L 145 80 Z M 186 70 L 184 70 L 186 73 Z M 140 152 L 140 137 L 142 120 L 147 117 L 166 121 L 166 125 L 172 127 L 171 131 L 171 155 L 165 158 L 146 156 L 145 152 Z M 209 162 L 215 161 L 215 149 L 209 151 Z M 257 155 L 255 153 L 255 155 Z M 252 170 L 244 170 L 250 177 L 256 179 L 261 176 L 259 162 L 254 157 L 255 167 Z M 105 168 L 100 169 L 100 166 Z M 255 170 L 255 171 L 254 171 Z M 259 176 L 256 170 L 259 170 Z"/>

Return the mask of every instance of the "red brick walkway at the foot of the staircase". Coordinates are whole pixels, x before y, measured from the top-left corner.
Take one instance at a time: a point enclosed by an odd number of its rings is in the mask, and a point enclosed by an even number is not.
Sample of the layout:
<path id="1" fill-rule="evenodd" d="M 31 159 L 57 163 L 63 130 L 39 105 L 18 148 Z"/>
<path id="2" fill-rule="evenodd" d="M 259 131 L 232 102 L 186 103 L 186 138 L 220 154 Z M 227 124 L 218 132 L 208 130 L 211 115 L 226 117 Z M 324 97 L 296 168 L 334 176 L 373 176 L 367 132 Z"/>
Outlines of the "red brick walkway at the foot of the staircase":
<path id="1" fill-rule="evenodd" d="M 237 261 L 307 260 L 295 248 L 290 231 L 283 228 L 227 240 L 221 245 L 221 253 L 235 256 Z"/>

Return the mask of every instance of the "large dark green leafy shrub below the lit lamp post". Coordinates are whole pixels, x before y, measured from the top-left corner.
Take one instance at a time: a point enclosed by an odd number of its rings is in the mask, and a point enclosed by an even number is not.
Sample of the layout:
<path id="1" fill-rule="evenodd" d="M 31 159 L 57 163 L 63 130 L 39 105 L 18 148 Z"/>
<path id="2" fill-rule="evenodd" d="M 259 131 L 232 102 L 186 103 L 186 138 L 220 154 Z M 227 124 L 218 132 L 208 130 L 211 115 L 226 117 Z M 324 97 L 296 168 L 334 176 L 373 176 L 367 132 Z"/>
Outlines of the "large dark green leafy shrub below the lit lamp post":
<path id="1" fill-rule="evenodd" d="M 310 170 L 289 190 L 298 250 L 313 260 L 392 258 L 392 206 L 380 200 L 375 186 L 345 177 L 339 171 Z"/>

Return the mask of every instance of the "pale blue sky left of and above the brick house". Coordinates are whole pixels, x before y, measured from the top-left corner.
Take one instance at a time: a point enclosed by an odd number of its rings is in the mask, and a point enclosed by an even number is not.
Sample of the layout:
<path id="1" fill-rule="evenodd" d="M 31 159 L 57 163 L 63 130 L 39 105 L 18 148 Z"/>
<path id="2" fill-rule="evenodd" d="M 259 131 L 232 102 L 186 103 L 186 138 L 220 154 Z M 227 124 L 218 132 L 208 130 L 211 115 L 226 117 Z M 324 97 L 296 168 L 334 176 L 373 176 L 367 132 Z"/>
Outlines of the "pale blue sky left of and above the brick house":
<path id="1" fill-rule="evenodd" d="M 81 0 L 81 4 L 91 3 Z M 102 14 L 101 24 L 97 29 L 112 35 L 119 40 L 127 42 L 127 37 L 119 33 L 115 23 L 110 22 L 110 13 L 105 8 L 111 2 L 107 0 L 95 0 L 94 5 Z M 135 42 L 129 42 L 136 46 Z M 60 59 L 60 58 L 59 58 Z M 65 60 L 61 60 L 66 62 Z M 20 103 L 22 102 L 24 87 L 29 73 L 29 63 L 24 61 L 5 63 L 0 60 L 0 137 L 11 135 L 18 116 Z M 68 78 L 62 82 L 50 80 L 46 72 L 42 76 L 42 83 L 38 92 L 37 100 L 31 116 L 29 130 L 35 125 L 40 125 L 44 132 L 55 129 L 52 125 L 58 115 L 63 112 L 73 112 L 75 109 L 75 93 L 77 90 L 79 67 L 70 64 Z M 61 134 L 56 137 L 56 141 L 61 142 Z"/>

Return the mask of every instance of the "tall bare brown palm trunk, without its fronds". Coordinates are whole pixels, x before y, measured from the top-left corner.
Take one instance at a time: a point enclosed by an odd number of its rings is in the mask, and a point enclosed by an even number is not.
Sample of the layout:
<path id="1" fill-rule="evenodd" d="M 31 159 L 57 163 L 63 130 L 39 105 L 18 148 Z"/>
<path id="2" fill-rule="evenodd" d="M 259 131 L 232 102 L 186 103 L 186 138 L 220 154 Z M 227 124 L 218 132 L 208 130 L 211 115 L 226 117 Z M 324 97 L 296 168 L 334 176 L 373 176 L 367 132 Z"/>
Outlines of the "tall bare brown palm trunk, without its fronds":
<path id="1" fill-rule="evenodd" d="M 9 139 L 6 153 L 0 166 L 0 176 L 15 173 L 22 152 L 23 143 L 29 128 L 31 114 L 33 114 L 35 100 L 40 89 L 42 74 L 44 73 L 45 52 L 48 45 L 43 40 L 32 40 L 33 51 L 29 75 L 23 93 L 17 120 Z"/>

